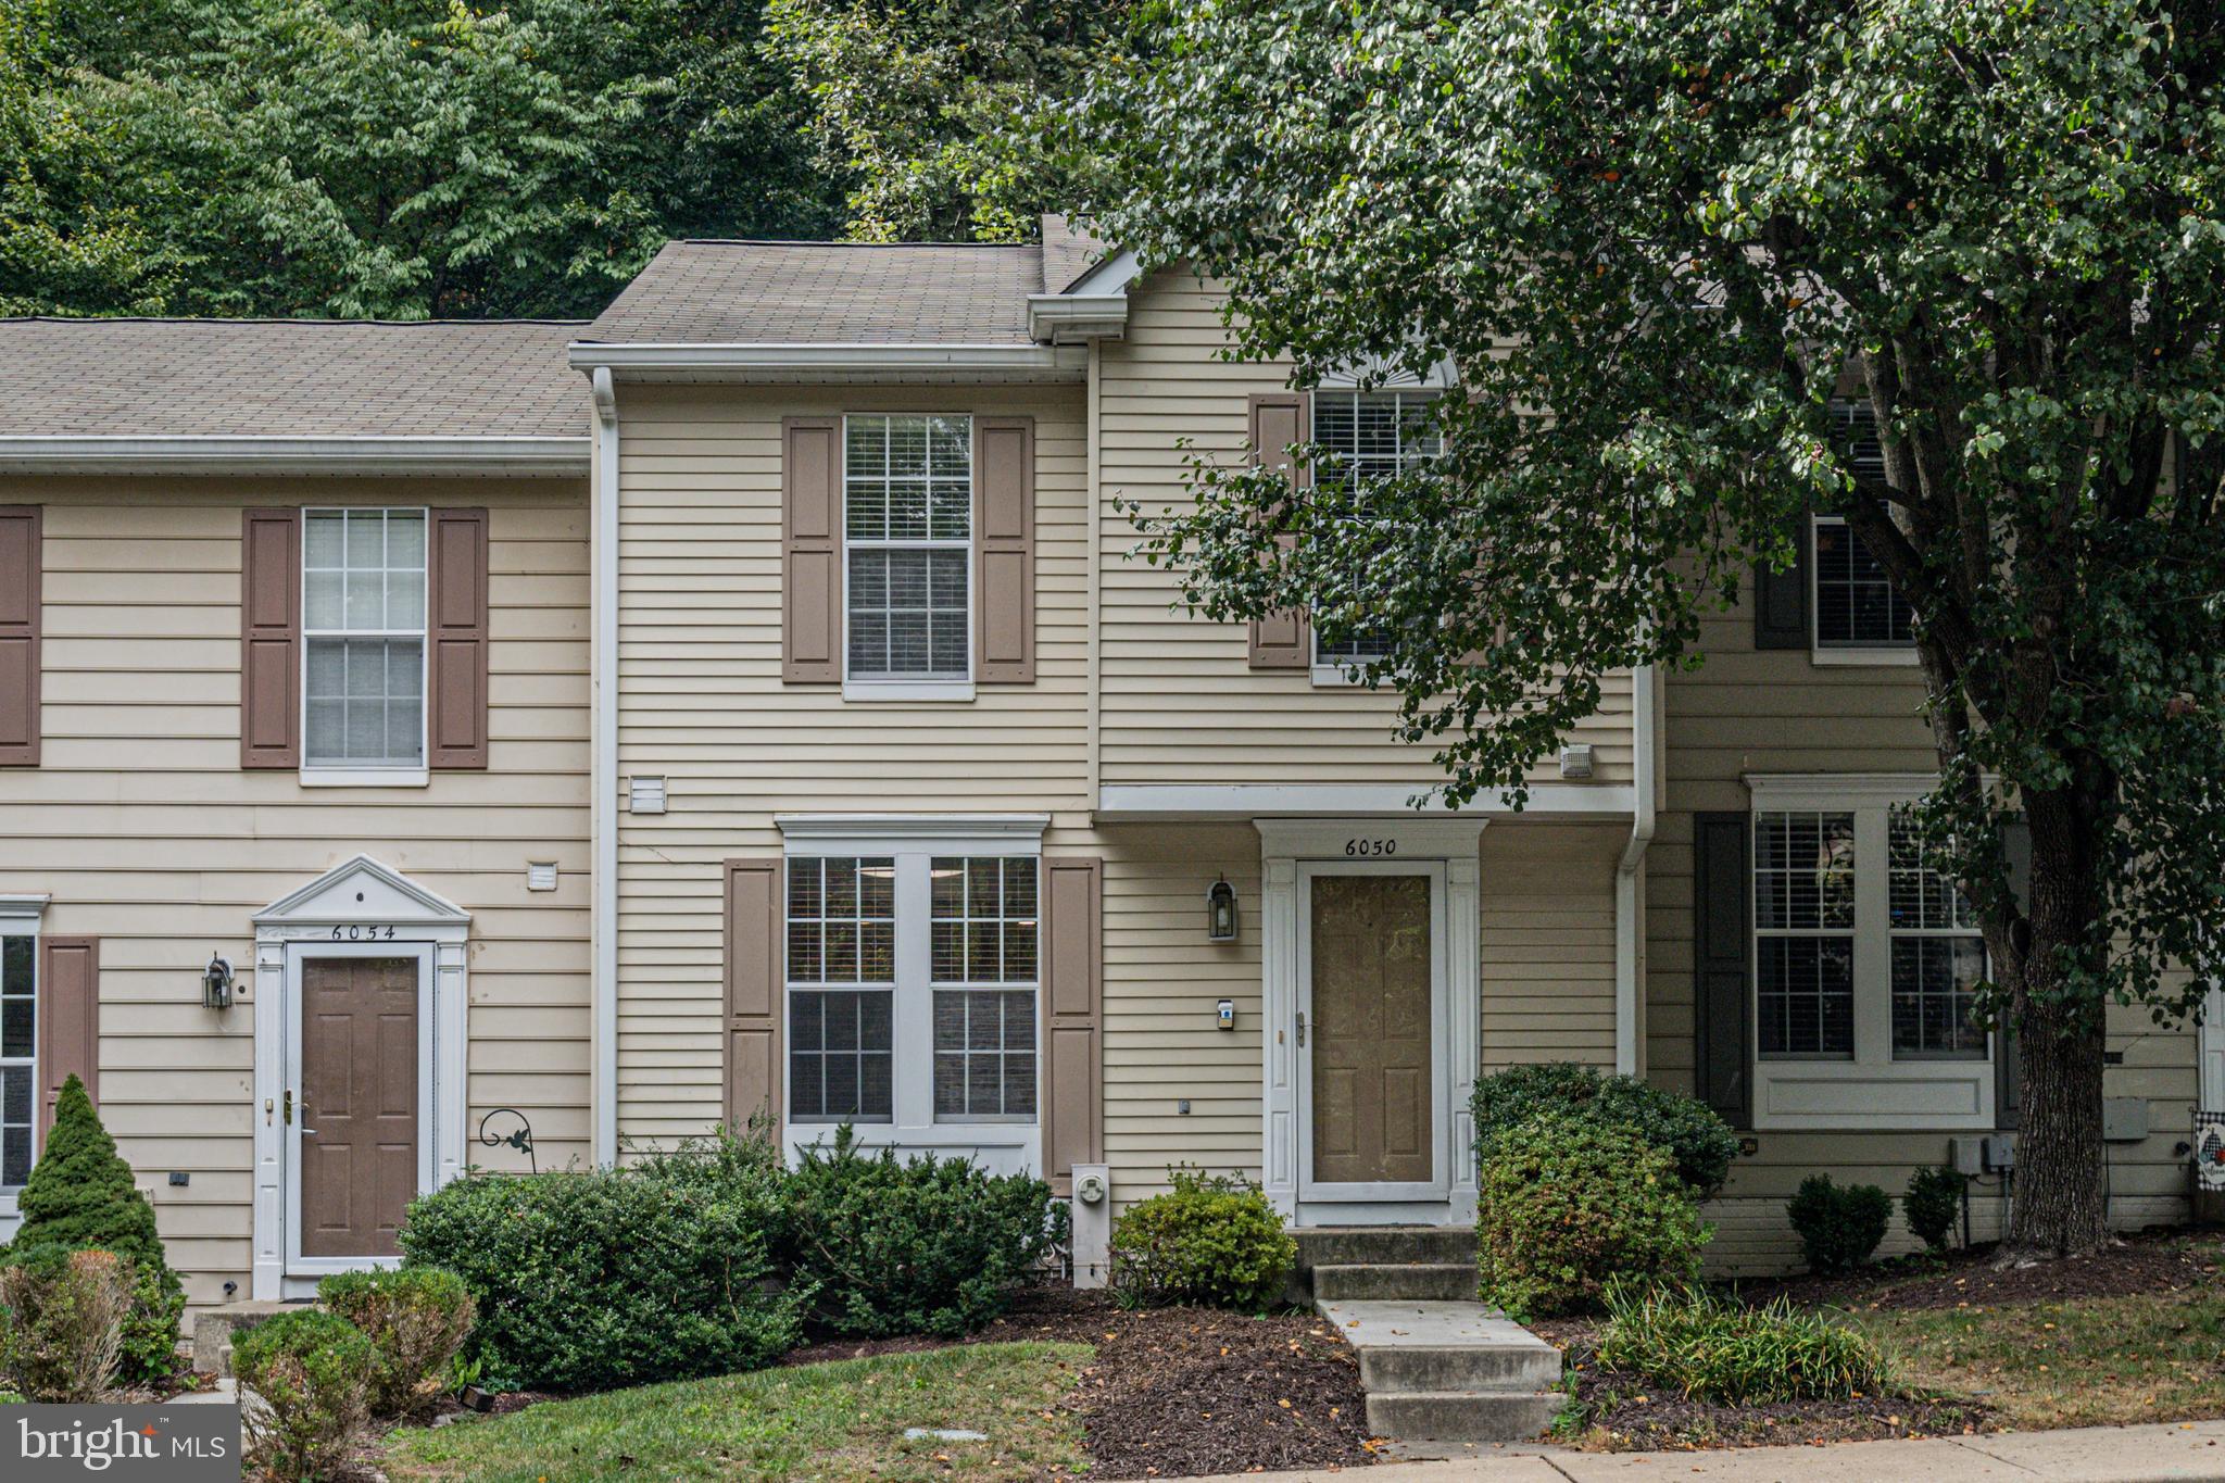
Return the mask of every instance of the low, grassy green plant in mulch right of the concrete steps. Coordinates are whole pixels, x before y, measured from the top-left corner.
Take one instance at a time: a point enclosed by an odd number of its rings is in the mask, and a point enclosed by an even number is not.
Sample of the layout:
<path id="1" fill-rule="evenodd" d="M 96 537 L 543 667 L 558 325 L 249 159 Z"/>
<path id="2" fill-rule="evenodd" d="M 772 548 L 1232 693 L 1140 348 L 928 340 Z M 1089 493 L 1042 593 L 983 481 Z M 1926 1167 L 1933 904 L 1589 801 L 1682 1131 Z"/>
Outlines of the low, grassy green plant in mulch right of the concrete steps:
<path id="1" fill-rule="evenodd" d="M 1606 1290 L 1600 1363 L 1715 1405 L 1847 1401 L 1891 1385 L 1869 1336 L 1789 1298 L 1724 1303 L 1698 1287 L 1618 1281 Z"/>

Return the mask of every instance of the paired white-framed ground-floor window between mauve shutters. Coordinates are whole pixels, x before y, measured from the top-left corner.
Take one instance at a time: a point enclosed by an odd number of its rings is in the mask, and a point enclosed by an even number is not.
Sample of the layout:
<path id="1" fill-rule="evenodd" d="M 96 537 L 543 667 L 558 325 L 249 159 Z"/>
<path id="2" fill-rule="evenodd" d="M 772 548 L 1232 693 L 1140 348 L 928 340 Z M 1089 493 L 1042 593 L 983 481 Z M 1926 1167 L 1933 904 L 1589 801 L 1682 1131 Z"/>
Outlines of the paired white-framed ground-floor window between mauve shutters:
<path id="1" fill-rule="evenodd" d="M 1032 845 L 1032 840 L 1028 840 Z M 1008 1149 L 1039 1103 L 1039 858 L 1012 840 L 788 856 L 788 1121 L 810 1143 Z M 814 847 L 803 843 L 803 849 Z M 939 1125 L 986 1127 L 957 1141 Z"/>

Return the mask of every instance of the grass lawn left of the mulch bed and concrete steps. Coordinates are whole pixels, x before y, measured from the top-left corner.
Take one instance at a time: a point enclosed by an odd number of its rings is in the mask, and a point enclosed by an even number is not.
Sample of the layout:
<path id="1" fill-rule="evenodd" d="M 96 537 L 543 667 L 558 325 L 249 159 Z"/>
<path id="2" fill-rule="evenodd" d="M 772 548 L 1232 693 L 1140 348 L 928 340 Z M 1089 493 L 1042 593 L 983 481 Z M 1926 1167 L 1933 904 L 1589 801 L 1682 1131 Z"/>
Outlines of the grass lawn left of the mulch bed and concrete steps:
<path id="1" fill-rule="evenodd" d="M 1057 1410 L 1088 1345 L 997 1343 L 674 1381 L 389 1436 L 389 1479 L 1032 1479 L 1081 1470 Z M 906 1427 L 986 1443 L 906 1441 Z"/>

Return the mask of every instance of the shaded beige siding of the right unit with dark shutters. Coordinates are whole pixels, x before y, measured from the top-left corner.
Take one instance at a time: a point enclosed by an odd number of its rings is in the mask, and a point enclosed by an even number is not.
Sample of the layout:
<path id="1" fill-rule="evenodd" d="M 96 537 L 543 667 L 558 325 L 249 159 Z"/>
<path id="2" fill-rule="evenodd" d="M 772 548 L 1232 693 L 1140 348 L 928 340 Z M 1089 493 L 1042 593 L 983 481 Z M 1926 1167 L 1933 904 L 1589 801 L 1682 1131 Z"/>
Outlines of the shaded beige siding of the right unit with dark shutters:
<path id="1" fill-rule="evenodd" d="M 1751 591 L 1747 594 L 1751 596 Z M 1804 649 L 1756 649 L 1753 611 L 1709 618 L 1707 663 L 1662 676 L 1662 816 L 1646 854 L 1646 1074 L 1693 1087 L 1693 814 L 1744 812 L 1747 774 L 1934 772 L 1938 754 L 1918 716 L 1922 678 L 1905 665 L 1816 665 Z M 2112 1212 L 2136 1227 L 2185 1210 L 2187 1138 L 2196 1098 L 2194 1032 L 2156 1029 L 2143 1009 L 2112 1009 L 2109 1049 L 2123 1052 L 2105 1078 L 2109 1096 L 2149 1098 L 2152 1136 L 2109 1145 Z M 1727 1272 L 1782 1270 L 1798 1261 L 1784 1201 L 1816 1172 L 1840 1183 L 1882 1185 L 1900 1196 L 1909 1174 L 1945 1163 L 1949 1134 L 1762 1132 L 1709 1210 L 1720 1230 L 1711 1261 Z M 2000 1185 L 1974 1187 L 1971 1227 L 2000 1227 Z M 1887 1250 L 1909 1243 L 1893 1214 Z"/>

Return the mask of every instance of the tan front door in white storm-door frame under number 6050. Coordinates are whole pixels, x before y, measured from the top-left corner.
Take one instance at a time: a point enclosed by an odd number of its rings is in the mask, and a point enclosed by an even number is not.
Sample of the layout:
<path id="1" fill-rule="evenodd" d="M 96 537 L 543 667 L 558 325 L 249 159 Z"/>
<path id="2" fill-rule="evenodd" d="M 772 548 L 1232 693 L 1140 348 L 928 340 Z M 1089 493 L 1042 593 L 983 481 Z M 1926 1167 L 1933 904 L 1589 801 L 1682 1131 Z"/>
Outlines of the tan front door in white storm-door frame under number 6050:
<path id="1" fill-rule="evenodd" d="M 1297 872 L 1297 1194 L 1444 1201 L 1451 1065 L 1442 860 Z"/>

